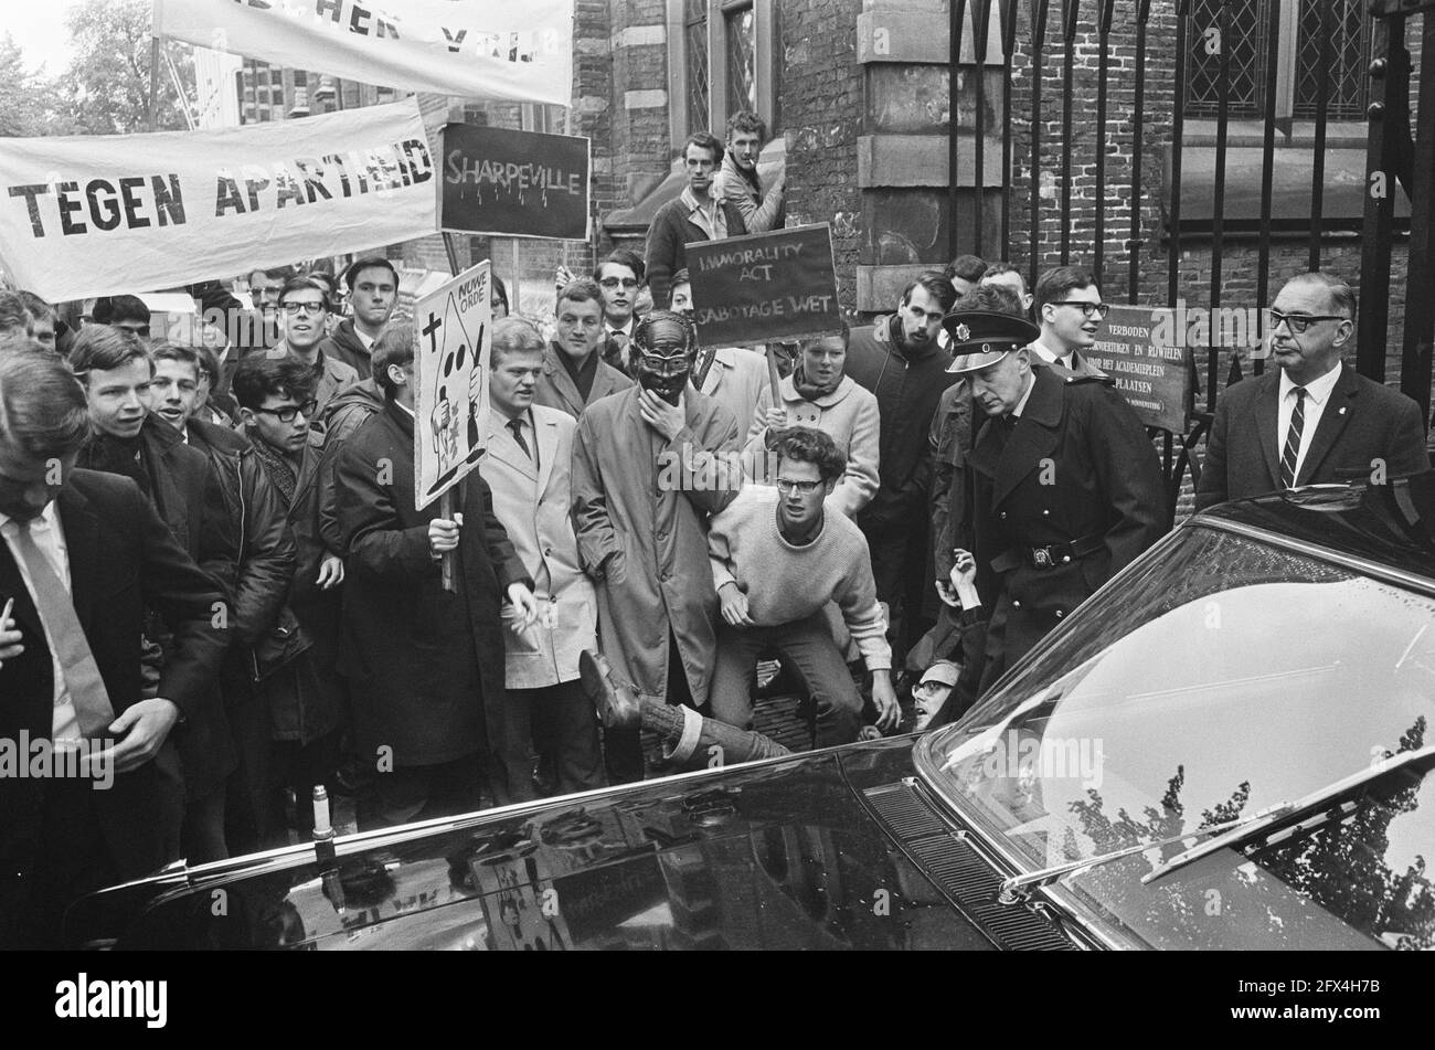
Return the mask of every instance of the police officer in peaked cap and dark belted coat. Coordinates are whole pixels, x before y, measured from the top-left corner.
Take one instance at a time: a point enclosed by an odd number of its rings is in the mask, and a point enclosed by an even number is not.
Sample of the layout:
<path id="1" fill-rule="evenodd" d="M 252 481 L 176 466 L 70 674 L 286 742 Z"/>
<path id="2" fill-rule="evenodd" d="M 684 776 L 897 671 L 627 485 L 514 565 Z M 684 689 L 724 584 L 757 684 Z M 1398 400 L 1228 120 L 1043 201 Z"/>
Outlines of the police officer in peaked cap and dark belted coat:
<path id="1" fill-rule="evenodd" d="M 979 587 L 994 598 L 984 691 L 1171 518 L 1155 448 L 1108 383 L 1033 367 L 1025 317 L 957 310 L 943 327 L 979 427 L 966 473 Z"/>

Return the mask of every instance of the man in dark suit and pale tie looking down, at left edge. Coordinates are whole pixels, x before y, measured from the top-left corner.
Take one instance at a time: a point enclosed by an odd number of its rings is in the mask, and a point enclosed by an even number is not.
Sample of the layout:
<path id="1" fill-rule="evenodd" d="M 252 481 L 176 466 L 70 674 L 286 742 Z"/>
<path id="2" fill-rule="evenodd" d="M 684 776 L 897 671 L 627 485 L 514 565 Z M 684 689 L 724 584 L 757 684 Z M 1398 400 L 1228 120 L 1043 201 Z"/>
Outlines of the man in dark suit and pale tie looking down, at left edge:
<path id="1" fill-rule="evenodd" d="M 116 742 L 108 790 L 0 777 L 6 948 L 59 945 L 77 897 L 179 855 L 171 730 L 187 732 L 225 648 L 211 621 L 224 595 L 133 482 L 73 469 L 88 433 L 85 392 L 63 363 L 0 356 L 0 739 L 32 753 Z M 174 638 L 152 699 L 141 691 L 146 608 Z"/>

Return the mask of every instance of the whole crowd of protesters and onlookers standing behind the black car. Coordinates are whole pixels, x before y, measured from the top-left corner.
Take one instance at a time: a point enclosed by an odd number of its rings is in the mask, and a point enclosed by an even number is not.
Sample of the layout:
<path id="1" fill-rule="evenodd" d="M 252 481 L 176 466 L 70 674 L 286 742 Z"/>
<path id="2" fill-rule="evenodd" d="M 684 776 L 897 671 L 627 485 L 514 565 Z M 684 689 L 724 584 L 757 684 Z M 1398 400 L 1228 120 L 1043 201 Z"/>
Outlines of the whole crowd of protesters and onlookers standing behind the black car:
<path id="1" fill-rule="evenodd" d="M 415 506 L 382 257 L 255 270 L 248 304 L 188 288 L 244 318 L 188 343 L 136 295 L 0 293 L 0 737 L 109 740 L 115 769 L 0 776 L 0 944 L 304 838 L 320 785 L 372 829 L 784 755 L 761 660 L 818 746 L 940 724 L 1170 529 L 1081 268 L 1027 290 L 961 257 L 874 323 L 700 346 L 683 245 L 781 225 L 763 136 L 693 135 L 646 257 L 560 271 L 550 324 L 494 283 L 486 452 L 449 516 Z M 1353 318 L 1337 278 L 1281 290 L 1280 367 L 1223 400 L 1201 505 L 1428 468 L 1413 402 L 1342 364 Z"/>

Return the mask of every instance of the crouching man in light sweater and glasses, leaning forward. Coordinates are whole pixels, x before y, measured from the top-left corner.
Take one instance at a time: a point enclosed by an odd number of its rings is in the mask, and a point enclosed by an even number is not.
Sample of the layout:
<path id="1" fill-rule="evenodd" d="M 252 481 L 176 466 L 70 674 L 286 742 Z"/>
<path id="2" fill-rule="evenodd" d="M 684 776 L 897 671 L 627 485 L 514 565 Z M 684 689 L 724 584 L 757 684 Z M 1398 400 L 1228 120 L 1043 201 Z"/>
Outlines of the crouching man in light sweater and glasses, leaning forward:
<path id="1" fill-rule="evenodd" d="M 877 726 L 891 729 L 901 711 L 867 541 L 850 518 L 824 512 L 847 458 L 831 436 L 805 426 L 788 427 L 771 448 L 778 458 L 776 486 L 745 486 L 712 519 L 707 535 L 723 618 L 713 717 L 752 729 L 748 684 L 758 653 L 775 648 L 812 696 L 818 746 L 855 740 L 862 699 L 822 615 L 822 607 L 835 601 L 872 673 Z"/>

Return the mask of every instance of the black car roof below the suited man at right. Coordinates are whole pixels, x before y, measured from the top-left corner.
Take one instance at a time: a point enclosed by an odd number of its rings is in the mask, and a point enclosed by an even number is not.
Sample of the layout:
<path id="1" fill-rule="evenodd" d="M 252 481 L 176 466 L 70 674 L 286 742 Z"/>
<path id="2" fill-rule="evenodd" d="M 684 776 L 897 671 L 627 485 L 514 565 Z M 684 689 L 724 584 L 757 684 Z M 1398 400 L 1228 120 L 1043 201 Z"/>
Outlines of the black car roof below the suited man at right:
<path id="1" fill-rule="evenodd" d="M 1383 485 L 1309 485 L 1237 499 L 1188 525 L 1260 532 L 1294 549 L 1323 548 L 1435 594 L 1435 470 Z"/>

